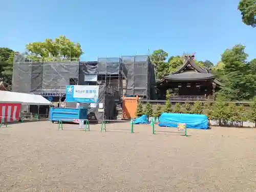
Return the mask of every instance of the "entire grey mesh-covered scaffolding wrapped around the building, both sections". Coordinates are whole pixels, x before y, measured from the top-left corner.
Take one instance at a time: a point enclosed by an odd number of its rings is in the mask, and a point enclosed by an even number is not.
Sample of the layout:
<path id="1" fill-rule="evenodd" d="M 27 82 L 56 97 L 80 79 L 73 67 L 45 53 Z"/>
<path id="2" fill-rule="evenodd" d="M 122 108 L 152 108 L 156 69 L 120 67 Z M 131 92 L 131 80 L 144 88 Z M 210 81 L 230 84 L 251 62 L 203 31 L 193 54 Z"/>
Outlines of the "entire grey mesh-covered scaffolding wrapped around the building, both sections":
<path id="1" fill-rule="evenodd" d="M 86 82 L 85 75 L 96 75 L 97 81 Z M 110 88 L 115 100 L 122 95 L 145 99 L 154 97 L 154 66 L 148 55 L 98 58 L 83 62 L 77 58 L 26 59 L 15 54 L 12 90 L 65 101 L 66 85 L 99 85 Z"/>

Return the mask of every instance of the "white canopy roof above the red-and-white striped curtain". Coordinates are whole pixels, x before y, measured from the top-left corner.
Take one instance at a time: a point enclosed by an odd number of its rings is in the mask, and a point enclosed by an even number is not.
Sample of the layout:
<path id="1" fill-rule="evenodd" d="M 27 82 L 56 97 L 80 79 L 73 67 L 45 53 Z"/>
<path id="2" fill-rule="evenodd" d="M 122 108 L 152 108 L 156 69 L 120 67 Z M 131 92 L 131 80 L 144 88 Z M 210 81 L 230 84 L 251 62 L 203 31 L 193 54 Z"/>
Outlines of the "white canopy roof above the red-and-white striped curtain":
<path id="1" fill-rule="evenodd" d="M 30 105 L 50 105 L 51 102 L 41 95 L 0 91 L 0 103 L 21 103 Z"/>

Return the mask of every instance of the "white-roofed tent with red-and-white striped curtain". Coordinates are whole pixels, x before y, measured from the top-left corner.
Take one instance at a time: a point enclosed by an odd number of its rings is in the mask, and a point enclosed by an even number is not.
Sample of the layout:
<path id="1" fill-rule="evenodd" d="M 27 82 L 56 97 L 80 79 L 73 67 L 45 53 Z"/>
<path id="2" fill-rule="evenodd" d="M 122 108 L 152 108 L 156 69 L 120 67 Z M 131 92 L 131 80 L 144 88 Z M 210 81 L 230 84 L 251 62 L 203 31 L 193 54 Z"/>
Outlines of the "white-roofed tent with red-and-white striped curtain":
<path id="1" fill-rule="evenodd" d="M 40 95 L 0 91 L 0 123 L 18 120 L 22 104 L 51 105 L 51 102 Z"/>

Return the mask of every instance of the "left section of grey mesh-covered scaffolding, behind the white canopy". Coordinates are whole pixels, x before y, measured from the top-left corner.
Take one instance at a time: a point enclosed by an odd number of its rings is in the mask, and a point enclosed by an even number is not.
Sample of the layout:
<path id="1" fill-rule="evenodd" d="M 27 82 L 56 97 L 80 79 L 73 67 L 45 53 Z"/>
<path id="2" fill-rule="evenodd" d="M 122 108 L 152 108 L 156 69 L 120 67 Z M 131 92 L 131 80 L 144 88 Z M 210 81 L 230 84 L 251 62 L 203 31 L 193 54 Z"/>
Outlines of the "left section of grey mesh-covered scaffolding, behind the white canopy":
<path id="1" fill-rule="evenodd" d="M 32 60 L 15 54 L 12 91 L 58 97 L 58 102 L 61 102 L 66 95 L 66 85 L 78 84 L 78 68 L 77 58 Z"/>

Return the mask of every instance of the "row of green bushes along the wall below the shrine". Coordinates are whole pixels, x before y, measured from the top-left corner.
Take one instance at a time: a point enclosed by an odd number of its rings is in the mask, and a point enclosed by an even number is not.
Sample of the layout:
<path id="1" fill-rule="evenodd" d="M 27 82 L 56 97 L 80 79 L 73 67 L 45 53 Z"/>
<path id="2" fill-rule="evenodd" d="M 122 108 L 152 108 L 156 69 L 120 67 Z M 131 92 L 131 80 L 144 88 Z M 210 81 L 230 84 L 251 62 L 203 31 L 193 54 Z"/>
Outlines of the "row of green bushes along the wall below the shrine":
<path id="1" fill-rule="evenodd" d="M 188 114 L 204 114 L 209 120 L 219 121 L 231 121 L 231 122 L 243 122 L 251 121 L 256 126 L 256 97 L 250 103 L 250 107 L 245 107 L 243 104 L 237 105 L 236 103 L 225 103 L 224 101 L 217 101 L 211 104 L 210 102 L 197 101 L 194 105 L 185 102 L 184 105 L 176 103 L 172 108 L 172 103 L 169 100 L 165 102 L 165 109 L 162 109 L 161 105 L 157 105 L 155 111 L 153 111 L 152 104 L 147 102 L 145 108 L 141 102 L 138 103 L 136 116 L 143 114 L 148 117 L 159 117 L 163 112 L 166 113 L 188 113 Z"/>

